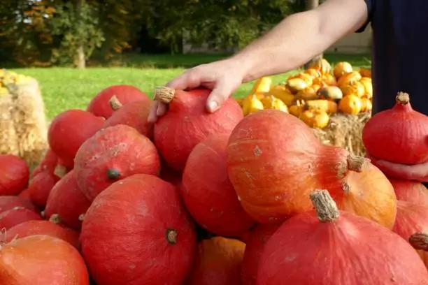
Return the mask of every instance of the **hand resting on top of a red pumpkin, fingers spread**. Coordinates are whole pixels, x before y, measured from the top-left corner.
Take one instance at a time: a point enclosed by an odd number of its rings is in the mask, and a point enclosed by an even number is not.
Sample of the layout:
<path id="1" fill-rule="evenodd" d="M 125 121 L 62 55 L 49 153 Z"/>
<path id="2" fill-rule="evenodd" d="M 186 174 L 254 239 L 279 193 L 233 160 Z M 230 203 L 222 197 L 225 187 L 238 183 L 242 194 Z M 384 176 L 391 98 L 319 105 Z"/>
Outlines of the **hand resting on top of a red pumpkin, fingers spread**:
<path id="1" fill-rule="evenodd" d="M 206 109 L 208 112 L 215 112 L 243 82 L 244 66 L 242 62 L 233 58 L 215 61 L 211 64 L 201 64 L 174 78 L 168 82 L 166 87 L 179 90 L 206 87 L 213 90 L 206 101 Z M 167 109 L 168 106 L 165 103 L 155 100 L 148 122 L 156 122 L 157 118 L 163 116 Z"/>

